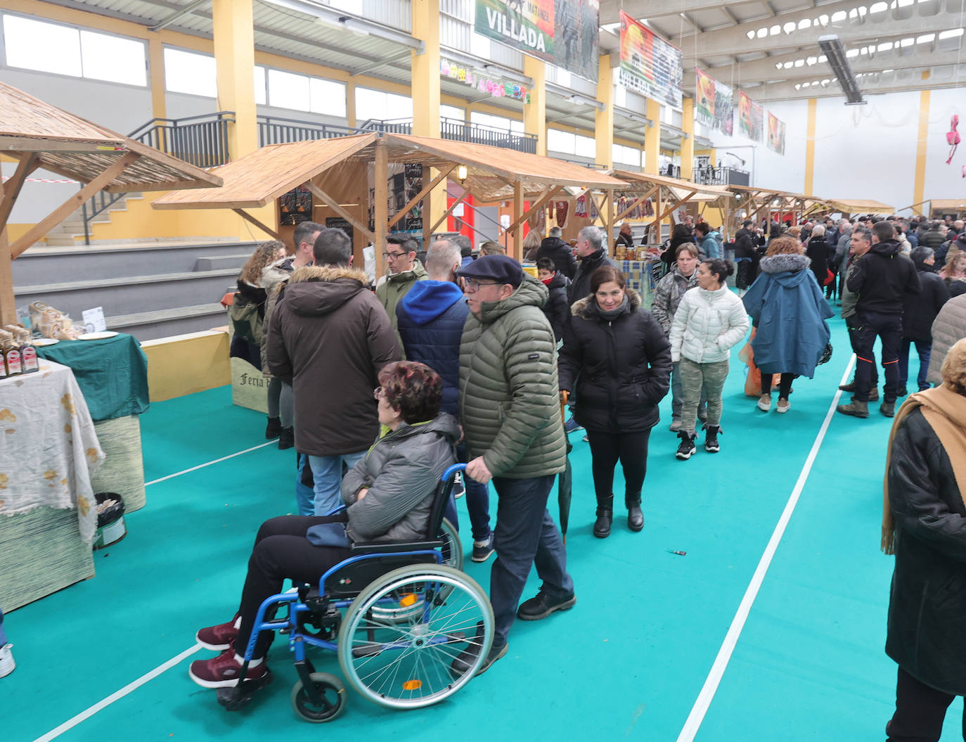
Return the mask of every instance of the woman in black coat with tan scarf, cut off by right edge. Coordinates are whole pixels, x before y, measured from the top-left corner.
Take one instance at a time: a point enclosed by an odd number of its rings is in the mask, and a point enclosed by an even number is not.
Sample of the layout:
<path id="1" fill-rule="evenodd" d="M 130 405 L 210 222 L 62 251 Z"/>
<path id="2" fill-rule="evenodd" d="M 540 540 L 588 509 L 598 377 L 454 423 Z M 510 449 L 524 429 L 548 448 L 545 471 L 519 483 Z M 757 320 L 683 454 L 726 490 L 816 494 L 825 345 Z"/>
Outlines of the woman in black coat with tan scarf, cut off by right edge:
<path id="1" fill-rule="evenodd" d="M 891 742 L 936 740 L 966 695 L 966 339 L 943 363 L 943 385 L 895 418 L 882 548 L 895 553 L 886 653 L 898 664 Z M 966 721 L 966 720 L 964 720 Z"/>

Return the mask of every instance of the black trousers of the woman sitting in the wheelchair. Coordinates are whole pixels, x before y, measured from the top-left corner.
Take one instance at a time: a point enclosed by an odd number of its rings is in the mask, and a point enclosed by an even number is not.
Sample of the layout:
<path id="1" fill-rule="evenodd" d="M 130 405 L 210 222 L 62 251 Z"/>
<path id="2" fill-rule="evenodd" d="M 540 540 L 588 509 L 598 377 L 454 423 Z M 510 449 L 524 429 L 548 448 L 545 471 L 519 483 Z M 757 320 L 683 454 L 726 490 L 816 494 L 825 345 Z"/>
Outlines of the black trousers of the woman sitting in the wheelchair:
<path id="1" fill-rule="evenodd" d="M 335 515 L 283 515 L 262 524 L 255 536 L 255 546 L 248 558 L 248 575 L 241 590 L 241 627 L 235 640 L 235 651 L 239 655 L 244 656 L 258 607 L 266 598 L 281 592 L 286 578 L 297 583 L 318 583 L 327 569 L 349 557 L 348 549 L 315 546 L 305 538 L 305 531 L 322 523 L 347 520 L 343 511 Z M 269 651 L 273 636 L 270 631 L 262 632 L 255 645 L 256 659 Z"/>

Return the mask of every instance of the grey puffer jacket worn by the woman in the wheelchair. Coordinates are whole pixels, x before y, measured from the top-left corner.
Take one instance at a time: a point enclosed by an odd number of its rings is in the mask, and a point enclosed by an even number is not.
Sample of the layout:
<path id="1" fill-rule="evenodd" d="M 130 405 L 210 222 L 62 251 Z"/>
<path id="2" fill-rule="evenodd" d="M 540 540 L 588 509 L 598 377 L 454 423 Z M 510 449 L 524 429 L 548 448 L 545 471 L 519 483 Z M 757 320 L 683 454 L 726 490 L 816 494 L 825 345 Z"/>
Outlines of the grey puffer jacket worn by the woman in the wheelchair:
<path id="1" fill-rule="evenodd" d="M 383 428 L 369 452 L 342 479 L 353 541 L 420 541 L 426 536 L 442 472 L 456 463 L 460 427 L 451 414 Z M 369 492 L 358 499 L 363 488 Z"/>

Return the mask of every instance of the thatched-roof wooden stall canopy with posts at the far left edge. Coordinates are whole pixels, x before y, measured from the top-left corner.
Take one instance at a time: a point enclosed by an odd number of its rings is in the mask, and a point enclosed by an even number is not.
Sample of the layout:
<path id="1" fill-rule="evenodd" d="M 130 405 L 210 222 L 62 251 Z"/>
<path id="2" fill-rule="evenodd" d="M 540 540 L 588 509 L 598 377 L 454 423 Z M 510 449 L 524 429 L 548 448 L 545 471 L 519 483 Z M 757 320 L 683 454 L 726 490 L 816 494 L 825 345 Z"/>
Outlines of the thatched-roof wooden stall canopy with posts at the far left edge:
<path id="1" fill-rule="evenodd" d="M 18 160 L 14 175 L 0 185 L 0 321 L 3 324 L 16 322 L 10 261 L 99 190 L 125 193 L 221 185 L 216 175 L 4 83 L 0 83 L 0 153 Z M 27 177 L 38 168 L 84 185 L 26 234 L 8 243 L 6 228 L 14 202 Z"/>

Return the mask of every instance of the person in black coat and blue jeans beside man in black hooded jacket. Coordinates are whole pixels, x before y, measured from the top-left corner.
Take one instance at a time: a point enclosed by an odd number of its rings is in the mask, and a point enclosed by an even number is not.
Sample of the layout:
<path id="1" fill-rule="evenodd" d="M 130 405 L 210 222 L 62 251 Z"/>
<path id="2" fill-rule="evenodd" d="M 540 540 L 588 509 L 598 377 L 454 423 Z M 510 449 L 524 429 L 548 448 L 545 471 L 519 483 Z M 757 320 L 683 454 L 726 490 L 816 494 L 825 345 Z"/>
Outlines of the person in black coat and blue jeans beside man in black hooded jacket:
<path id="1" fill-rule="evenodd" d="M 908 294 L 902 302 L 902 343 L 899 345 L 899 386 L 902 396 L 909 381 L 909 347 L 915 343 L 919 354 L 919 375 L 916 379 L 920 391 L 929 388 L 925 375 L 929 370 L 932 353 L 932 323 L 950 300 L 950 290 L 937 273 L 932 271 L 936 263 L 931 247 L 917 247 L 909 255 L 919 273 L 919 294 Z"/>

